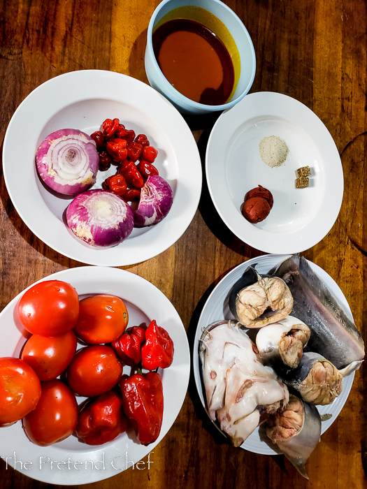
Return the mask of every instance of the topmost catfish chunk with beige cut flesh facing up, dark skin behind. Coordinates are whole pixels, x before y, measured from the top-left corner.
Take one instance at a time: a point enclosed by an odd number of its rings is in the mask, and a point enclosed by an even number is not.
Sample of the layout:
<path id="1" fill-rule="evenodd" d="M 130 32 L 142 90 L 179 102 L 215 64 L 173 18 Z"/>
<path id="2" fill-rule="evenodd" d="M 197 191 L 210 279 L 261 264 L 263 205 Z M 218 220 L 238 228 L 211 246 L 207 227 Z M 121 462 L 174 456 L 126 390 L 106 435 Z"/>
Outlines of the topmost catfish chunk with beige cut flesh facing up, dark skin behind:
<path id="1" fill-rule="evenodd" d="M 247 328 L 262 328 L 292 312 L 293 299 L 282 279 L 260 275 L 253 267 L 233 285 L 229 294 L 231 313 Z"/>

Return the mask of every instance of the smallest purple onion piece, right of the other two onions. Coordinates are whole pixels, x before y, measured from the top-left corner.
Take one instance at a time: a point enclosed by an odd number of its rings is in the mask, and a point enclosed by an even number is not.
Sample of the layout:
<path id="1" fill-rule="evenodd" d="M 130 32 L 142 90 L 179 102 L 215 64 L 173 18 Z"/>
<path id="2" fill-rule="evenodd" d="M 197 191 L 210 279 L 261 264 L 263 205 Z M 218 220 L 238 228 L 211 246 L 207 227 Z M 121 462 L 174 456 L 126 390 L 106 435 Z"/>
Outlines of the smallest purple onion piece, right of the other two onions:
<path id="1" fill-rule="evenodd" d="M 150 175 L 141 189 L 141 200 L 134 212 L 136 226 L 152 226 L 168 214 L 173 203 L 172 189 L 159 175 Z"/>

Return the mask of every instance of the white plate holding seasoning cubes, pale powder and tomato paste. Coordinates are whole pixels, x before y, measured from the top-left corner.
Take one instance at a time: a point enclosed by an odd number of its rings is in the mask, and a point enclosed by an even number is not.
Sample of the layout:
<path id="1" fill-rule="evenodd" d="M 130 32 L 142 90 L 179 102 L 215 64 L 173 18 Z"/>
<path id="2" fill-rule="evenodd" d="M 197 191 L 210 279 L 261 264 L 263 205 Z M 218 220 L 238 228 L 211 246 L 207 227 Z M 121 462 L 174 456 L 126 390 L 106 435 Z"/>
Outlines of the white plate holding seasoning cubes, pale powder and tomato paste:
<path id="1" fill-rule="evenodd" d="M 278 136 L 289 148 L 282 166 L 262 161 L 259 143 Z M 296 170 L 310 166 L 310 187 L 296 189 Z M 333 138 L 312 110 L 286 95 L 258 92 L 220 115 L 206 152 L 213 203 L 240 240 L 267 253 L 294 254 L 321 241 L 343 200 L 343 168 Z M 245 194 L 258 185 L 273 194 L 268 217 L 250 224 L 240 212 Z"/>

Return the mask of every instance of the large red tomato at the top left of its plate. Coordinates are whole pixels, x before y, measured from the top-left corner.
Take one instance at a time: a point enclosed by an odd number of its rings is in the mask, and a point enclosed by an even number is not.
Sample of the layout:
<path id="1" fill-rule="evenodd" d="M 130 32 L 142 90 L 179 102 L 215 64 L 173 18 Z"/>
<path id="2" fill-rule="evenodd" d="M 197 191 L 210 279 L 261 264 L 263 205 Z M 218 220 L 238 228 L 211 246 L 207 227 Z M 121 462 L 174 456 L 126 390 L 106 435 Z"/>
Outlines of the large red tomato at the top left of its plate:
<path id="1" fill-rule="evenodd" d="M 29 333 L 62 335 L 78 321 L 78 293 L 73 286 L 60 280 L 40 282 L 24 293 L 17 314 Z"/>

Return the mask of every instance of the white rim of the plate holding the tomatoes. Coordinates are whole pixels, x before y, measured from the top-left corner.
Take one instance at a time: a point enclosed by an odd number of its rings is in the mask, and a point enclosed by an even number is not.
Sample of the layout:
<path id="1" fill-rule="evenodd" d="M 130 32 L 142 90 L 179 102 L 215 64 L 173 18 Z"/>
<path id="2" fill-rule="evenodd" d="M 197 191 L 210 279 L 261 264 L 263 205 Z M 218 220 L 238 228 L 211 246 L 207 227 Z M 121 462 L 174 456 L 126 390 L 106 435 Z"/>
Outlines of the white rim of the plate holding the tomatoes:
<path id="1" fill-rule="evenodd" d="M 34 470 L 18 470 L 18 467 L 16 470 L 18 472 L 21 472 L 23 475 L 27 475 L 31 477 L 31 479 L 35 479 L 45 483 L 55 483 L 55 484 L 61 483 L 62 485 L 65 486 L 73 486 L 75 484 L 84 484 L 84 483 L 102 481 L 110 478 L 111 476 L 120 474 L 121 472 L 124 472 L 124 470 L 126 470 L 129 467 L 125 467 L 124 469 L 115 469 L 115 467 L 112 466 L 113 468 L 111 468 L 110 464 L 112 463 L 113 460 L 112 457 L 113 456 L 117 457 L 119 453 L 121 453 L 121 456 L 124 455 L 124 451 L 126 451 L 126 453 L 129 451 L 130 445 L 133 446 L 133 448 L 140 447 L 139 450 L 141 450 L 142 452 L 141 455 L 138 455 L 139 456 L 138 460 L 130 460 L 130 455 L 129 455 L 129 462 L 134 462 L 134 464 L 136 465 L 136 463 L 142 460 L 143 458 L 145 458 L 145 456 L 148 455 L 148 453 L 152 453 L 152 451 L 154 451 L 154 447 L 157 446 L 161 442 L 161 440 L 166 436 L 168 431 L 171 430 L 173 423 L 175 423 L 175 420 L 178 417 L 180 410 L 182 409 L 182 405 L 185 402 L 185 397 L 187 394 L 189 375 L 191 370 L 191 353 L 189 351 L 189 343 L 187 340 L 185 326 L 183 325 L 182 320 L 180 319 L 180 315 L 176 311 L 172 302 L 166 297 L 166 295 L 162 291 L 160 291 L 156 286 L 154 286 L 154 284 L 149 282 L 147 279 L 144 279 L 140 275 L 136 275 L 135 273 L 129 272 L 128 270 L 122 270 L 120 268 L 99 267 L 99 266 L 82 266 L 82 267 L 66 268 L 64 270 L 59 270 L 58 272 L 52 273 L 47 277 L 43 277 L 42 279 L 39 279 L 37 282 L 34 282 L 34 284 L 27 286 L 27 288 L 24 289 L 24 291 L 18 293 L 15 296 L 15 298 L 13 298 L 8 303 L 8 305 L 6 305 L 6 307 L 4 307 L 4 309 L 0 312 L 0 321 L 2 316 L 5 316 L 8 312 L 14 314 L 14 309 L 17 305 L 17 302 L 20 300 L 20 297 L 22 297 L 24 292 L 30 289 L 35 284 L 44 282 L 45 280 L 49 280 L 49 279 L 60 279 L 60 280 L 64 280 L 65 282 L 69 281 L 69 283 L 73 285 L 75 284 L 75 282 L 78 282 L 79 280 L 81 282 L 84 282 L 88 287 L 89 282 L 87 282 L 87 279 L 92 279 L 93 277 L 95 280 L 101 279 L 102 283 L 103 280 L 104 281 L 111 280 L 115 282 L 116 281 L 122 282 L 122 284 L 126 284 L 127 282 L 131 284 L 131 281 L 134 281 L 134 286 L 138 286 L 138 287 L 141 287 L 141 285 L 144 284 L 145 288 L 147 288 L 148 291 L 152 291 L 155 299 L 159 298 L 162 304 L 159 310 L 161 310 L 162 314 L 167 318 L 166 322 L 171 321 L 173 326 L 171 326 L 170 329 L 175 328 L 175 334 L 179 335 L 180 337 L 180 343 L 179 343 L 180 358 L 176 360 L 175 363 L 175 358 L 178 357 L 176 355 L 173 358 L 173 364 L 170 367 L 171 370 L 168 369 L 163 372 L 163 375 L 166 375 L 166 378 L 167 375 L 169 376 L 168 381 L 170 382 L 170 384 L 172 383 L 173 380 L 172 377 L 177 377 L 178 374 L 180 376 L 180 382 L 175 382 L 175 385 L 177 386 L 177 391 L 175 393 L 175 401 L 178 400 L 178 403 L 173 404 L 173 406 L 171 405 L 171 407 L 166 407 L 164 411 L 164 420 L 162 423 L 162 428 L 164 427 L 164 425 L 166 425 L 165 426 L 166 431 L 165 432 L 161 431 L 158 439 L 148 446 L 136 444 L 134 443 L 134 441 L 130 439 L 127 440 L 126 437 L 122 435 L 122 437 L 119 437 L 119 439 L 115 441 L 111 441 L 108 444 L 104 444 L 96 447 L 85 445 L 85 450 L 71 451 L 71 449 L 58 446 L 58 444 L 45 446 L 45 447 L 37 446 L 33 444 L 31 441 L 27 439 L 27 436 L 22 432 L 21 421 L 18 421 L 17 423 L 9 427 L 2 428 L 2 430 L 4 431 L 3 431 L 3 437 L 0 437 L 0 451 L 1 451 L 0 455 L 2 457 L 8 456 L 8 458 L 10 458 L 13 457 L 13 451 L 14 451 L 16 452 L 17 460 L 21 460 L 22 462 L 25 462 L 26 460 L 29 460 L 29 453 L 27 452 L 27 447 L 28 447 L 28 450 L 32 451 L 32 454 L 34 453 L 35 458 L 32 465 L 32 468 Z M 98 292 L 92 292 L 92 293 L 98 293 Z M 129 291 L 129 293 L 134 293 L 134 292 Z M 83 295 L 83 293 L 79 293 L 79 295 Z M 143 307 L 138 305 L 137 307 L 141 308 L 141 310 L 145 312 L 145 314 L 147 314 L 148 312 L 146 309 L 149 308 L 152 309 L 150 305 L 143 306 Z M 154 304 L 154 307 L 157 307 L 157 305 Z M 149 317 L 149 314 L 147 314 L 147 316 Z M 15 325 L 14 327 L 16 328 Z M 22 339 L 22 333 L 19 330 L 16 341 L 19 342 L 21 339 Z M 182 359 L 185 359 L 184 363 L 182 363 Z M 170 399 L 170 397 L 168 397 L 168 395 L 166 394 L 165 400 L 167 399 Z M 167 421 L 165 420 L 165 418 Z M 24 441 L 22 441 L 21 446 L 17 448 L 14 446 L 14 449 L 12 450 L 8 448 L 8 446 L 9 444 L 11 445 L 13 443 L 11 440 L 14 437 L 14 432 L 15 434 L 18 435 L 19 433 L 22 433 L 22 436 L 24 436 Z M 13 437 L 11 435 L 13 435 Z M 24 453 L 24 446 L 26 447 L 25 453 Z M 3 453 L 3 451 L 5 450 L 6 451 L 9 450 L 11 453 L 6 455 L 5 453 Z M 24 453 L 24 458 L 22 458 L 22 451 Z M 43 467 L 43 469 L 41 469 L 41 467 L 38 467 L 37 469 L 37 461 L 38 461 L 38 458 L 36 458 L 37 455 L 38 457 L 41 456 L 49 457 L 51 459 L 52 457 L 57 457 L 57 455 L 59 455 L 59 458 L 57 458 L 57 460 L 62 461 L 62 460 L 66 460 L 67 458 L 66 453 L 67 455 L 71 455 L 71 456 L 74 455 L 75 459 L 77 460 L 80 460 L 80 458 L 82 458 L 83 455 L 85 455 L 85 462 L 87 462 L 87 460 L 88 462 L 92 460 L 95 463 L 98 462 L 98 459 L 101 458 L 103 454 L 103 460 L 106 460 L 106 465 L 103 464 L 103 466 L 106 468 L 104 470 L 93 469 L 92 471 L 87 471 L 87 469 L 85 470 L 59 469 L 57 472 L 55 471 L 55 469 L 52 470 L 49 469 L 48 467 Z M 10 462 L 7 460 L 7 465 L 13 467 L 14 464 L 11 460 Z"/>

